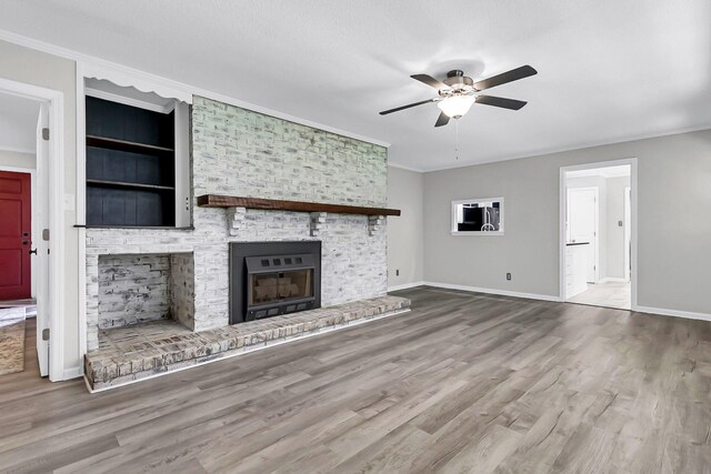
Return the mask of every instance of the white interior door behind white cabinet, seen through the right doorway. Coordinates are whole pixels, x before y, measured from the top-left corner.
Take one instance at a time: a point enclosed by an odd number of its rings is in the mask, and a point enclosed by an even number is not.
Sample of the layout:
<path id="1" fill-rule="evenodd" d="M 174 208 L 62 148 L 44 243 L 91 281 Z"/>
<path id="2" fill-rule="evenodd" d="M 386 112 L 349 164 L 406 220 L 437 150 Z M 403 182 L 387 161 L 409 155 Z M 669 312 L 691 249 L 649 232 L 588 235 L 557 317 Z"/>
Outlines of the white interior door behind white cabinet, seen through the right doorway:
<path id="1" fill-rule="evenodd" d="M 568 241 L 588 242 L 588 283 L 598 282 L 598 188 L 568 190 Z"/>

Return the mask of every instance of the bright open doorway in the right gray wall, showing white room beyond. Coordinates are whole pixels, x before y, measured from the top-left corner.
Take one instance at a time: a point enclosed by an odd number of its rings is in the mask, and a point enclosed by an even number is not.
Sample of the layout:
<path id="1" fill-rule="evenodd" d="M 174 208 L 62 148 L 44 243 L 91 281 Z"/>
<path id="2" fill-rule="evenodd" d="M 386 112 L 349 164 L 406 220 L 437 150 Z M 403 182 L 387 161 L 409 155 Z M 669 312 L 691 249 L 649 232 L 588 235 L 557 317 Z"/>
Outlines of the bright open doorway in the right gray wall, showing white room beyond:
<path id="1" fill-rule="evenodd" d="M 561 300 L 630 310 L 635 286 L 635 160 L 561 168 Z"/>

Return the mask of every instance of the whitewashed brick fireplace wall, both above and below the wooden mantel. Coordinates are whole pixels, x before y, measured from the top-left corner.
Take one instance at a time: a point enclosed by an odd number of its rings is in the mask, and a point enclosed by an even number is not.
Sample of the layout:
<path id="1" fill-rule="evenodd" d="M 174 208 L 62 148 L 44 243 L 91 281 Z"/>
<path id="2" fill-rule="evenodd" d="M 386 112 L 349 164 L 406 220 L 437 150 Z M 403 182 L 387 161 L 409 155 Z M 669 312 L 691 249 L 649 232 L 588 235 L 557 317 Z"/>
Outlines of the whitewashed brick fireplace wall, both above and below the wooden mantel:
<path id="1" fill-rule="evenodd" d="M 364 215 L 328 214 L 318 238 L 308 213 L 248 210 L 232 225 L 230 210 L 198 208 L 202 194 L 282 198 L 352 205 L 387 205 L 387 149 L 196 97 L 192 108 L 194 230 L 87 230 L 88 349 L 98 346 L 99 255 L 189 253 L 180 302 L 194 313 L 180 322 L 196 331 L 229 321 L 228 243 L 322 242 L 322 305 L 387 292 L 387 225 L 369 232 Z M 173 261 L 174 263 L 174 261 Z M 192 292 L 189 290 L 192 284 Z"/>

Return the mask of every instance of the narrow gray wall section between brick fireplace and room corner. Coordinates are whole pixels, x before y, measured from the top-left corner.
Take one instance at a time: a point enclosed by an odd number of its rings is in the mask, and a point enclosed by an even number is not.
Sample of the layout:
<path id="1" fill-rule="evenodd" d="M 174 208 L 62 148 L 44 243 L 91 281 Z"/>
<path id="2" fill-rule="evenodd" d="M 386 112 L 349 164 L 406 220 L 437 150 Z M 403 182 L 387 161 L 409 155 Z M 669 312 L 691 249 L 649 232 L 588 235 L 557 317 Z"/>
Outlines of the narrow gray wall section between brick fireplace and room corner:
<path id="1" fill-rule="evenodd" d="M 423 184 L 422 173 L 388 168 L 388 206 L 402 211 L 399 218 L 388 218 L 388 288 L 424 280 Z"/>

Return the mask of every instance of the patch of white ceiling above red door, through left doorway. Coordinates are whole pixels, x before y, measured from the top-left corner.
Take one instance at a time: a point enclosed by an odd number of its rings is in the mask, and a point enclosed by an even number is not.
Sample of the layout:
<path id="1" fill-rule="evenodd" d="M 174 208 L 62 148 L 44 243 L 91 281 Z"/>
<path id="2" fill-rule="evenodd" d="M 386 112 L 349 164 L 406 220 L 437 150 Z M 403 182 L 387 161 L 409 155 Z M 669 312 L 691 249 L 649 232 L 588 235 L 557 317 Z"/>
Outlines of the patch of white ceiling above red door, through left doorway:
<path id="1" fill-rule="evenodd" d="M 34 153 L 40 104 L 0 93 L 0 150 Z"/>

